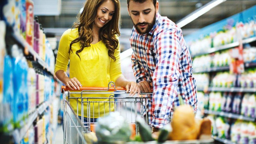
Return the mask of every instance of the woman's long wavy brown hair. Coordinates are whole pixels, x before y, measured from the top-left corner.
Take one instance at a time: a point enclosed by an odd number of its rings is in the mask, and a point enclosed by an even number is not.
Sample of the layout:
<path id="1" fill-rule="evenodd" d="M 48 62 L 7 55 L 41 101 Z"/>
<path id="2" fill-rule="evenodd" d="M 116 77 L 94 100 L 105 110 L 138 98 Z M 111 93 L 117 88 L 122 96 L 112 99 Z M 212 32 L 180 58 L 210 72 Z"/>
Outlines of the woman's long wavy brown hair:
<path id="1" fill-rule="evenodd" d="M 81 53 L 84 47 L 89 47 L 90 43 L 93 41 L 93 24 L 97 16 L 97 10 L 99 6 L 107 0 L 87 0 L 84 4 L 84 9 L 80 15 L 78 15 L 78 20 L 72 28 L 78 28 L 78 38 L 74 39 L 70 43 L 70 51 L 73 53 L 71 46 L 74 43 L 80 42 L 80 50 L 76 51 L 76 54 L 81 60 L 78 53 Z M 104 42 L 108 48 L 108 55 L 116 61 L 114 56 L 115 49 L 118 48 L 118 39 L 116 36 L 120 36 L 119 22 L 120 22 L 120 2 L 119 0 L 111 0 L 115 4 L 115 13 L 112 19 L 105 24 L 100 29 L 99 38 Z"/>

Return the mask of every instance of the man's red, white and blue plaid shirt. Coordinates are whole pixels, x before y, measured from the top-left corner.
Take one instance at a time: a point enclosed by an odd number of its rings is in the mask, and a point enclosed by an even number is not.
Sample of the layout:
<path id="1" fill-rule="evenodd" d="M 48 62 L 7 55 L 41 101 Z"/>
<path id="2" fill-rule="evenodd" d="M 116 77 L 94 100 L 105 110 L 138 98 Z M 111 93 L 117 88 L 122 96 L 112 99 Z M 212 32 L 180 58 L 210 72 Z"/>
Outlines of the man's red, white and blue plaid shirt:
<path id="1" fill-rule="evenodd" d="M 150 124 L 156 128 L 167 124 L 171 109 L 179 106 L 178 95 L 196 111 L 196 83 L 182 30 L 157 13 L 148 34 L 140 35 L 132 29 L 130 43 L 136 82 L 153 82 L 153 99 L 146 102 Z"/>

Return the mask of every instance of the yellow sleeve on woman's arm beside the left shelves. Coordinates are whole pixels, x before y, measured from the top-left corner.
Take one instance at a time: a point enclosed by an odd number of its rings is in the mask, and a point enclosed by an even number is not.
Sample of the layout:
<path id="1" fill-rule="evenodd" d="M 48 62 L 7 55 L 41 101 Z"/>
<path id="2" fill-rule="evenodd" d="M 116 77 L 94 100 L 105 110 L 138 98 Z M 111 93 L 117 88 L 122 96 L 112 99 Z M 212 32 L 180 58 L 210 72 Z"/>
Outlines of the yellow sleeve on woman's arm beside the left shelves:
<path id="1" fill-rule="evenodd" d="M 54 73 L 56 73 L 58 70 L 63 70 L 65 72 L 67 71 L 69 61 L 68 51 L 70 45 L 68 35 L 70 34 L 70 32 L 70 30 L 66 30 L 60 38 Z"/>

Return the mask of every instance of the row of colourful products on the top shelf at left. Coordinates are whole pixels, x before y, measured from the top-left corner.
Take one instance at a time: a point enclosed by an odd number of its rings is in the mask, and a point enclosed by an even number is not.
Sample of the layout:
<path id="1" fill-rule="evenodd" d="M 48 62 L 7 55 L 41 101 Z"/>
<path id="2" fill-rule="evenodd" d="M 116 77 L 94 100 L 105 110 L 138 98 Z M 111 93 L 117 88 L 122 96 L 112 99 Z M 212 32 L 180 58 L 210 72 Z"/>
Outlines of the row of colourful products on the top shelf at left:
<path id="1" fill-rule="evenodd" d="M 14 34 L 24 41 L 46 62 L 49 71 L 54 71 L 55 57 L 49 41 L 46 39 L 42 25 L 34 19 L 34 4 L 31 0 L 3 0 L 0 3 L 3 11 L 1 20 L 13 27 Z M 28 54 L 28 47 L 25 48 Z"/>

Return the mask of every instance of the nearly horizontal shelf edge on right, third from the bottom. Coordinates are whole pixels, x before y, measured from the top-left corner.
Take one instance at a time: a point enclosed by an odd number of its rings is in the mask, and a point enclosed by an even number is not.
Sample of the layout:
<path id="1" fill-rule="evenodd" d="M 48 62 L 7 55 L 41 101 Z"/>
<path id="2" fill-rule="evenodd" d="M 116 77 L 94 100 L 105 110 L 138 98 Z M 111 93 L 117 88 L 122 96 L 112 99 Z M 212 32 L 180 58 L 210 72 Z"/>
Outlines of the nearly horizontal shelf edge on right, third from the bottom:
<path id="1" fill-rule="evenodd" d="M 206 88 L 197 88 L 198 91 L 208 91 L 208 92 L 244 92 L 244 93 L 254 93 L 256 88 L 222 88 L 222 87 L 209 87 Z"/>

